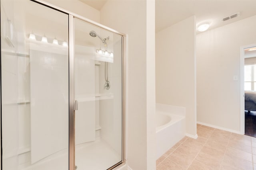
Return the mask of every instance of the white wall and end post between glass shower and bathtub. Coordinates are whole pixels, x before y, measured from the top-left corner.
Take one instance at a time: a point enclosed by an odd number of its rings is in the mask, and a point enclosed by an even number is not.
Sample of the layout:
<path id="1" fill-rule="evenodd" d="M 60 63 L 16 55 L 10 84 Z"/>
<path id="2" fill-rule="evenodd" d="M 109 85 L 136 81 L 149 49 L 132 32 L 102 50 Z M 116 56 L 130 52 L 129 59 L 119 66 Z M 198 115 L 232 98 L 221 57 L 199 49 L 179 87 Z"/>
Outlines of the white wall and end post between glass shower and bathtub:
<path id="1" fill-rule="evenodd" d="M 154 170 L 154 1 L 108 1 L 100 14 L 102 24 L 127 35 L 125 45 L 128 166 L 133 170 Z M 150 68 L 152 70 L 147 72 Z"/>

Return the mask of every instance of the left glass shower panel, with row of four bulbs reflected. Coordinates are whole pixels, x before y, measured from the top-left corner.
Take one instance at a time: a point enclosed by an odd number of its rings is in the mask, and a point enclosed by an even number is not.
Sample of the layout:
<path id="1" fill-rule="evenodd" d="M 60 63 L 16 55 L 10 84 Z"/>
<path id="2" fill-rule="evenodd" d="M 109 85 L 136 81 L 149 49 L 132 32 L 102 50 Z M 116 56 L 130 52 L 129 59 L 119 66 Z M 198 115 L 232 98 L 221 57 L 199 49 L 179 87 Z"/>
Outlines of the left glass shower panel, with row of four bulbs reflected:
<path id="1" fill-rule="evenodd" d="M 2 170 L 68 170 L 68 15 L 0 3 Z"/>

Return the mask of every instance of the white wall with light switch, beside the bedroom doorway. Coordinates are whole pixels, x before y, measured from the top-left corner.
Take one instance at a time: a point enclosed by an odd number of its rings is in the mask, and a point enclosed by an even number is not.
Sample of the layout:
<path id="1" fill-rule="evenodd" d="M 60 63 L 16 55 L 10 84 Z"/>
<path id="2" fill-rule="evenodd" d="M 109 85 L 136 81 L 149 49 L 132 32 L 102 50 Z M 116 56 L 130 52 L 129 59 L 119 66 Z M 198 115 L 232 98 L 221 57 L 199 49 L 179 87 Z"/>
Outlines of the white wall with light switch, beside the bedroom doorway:
<path id="1" fill-rule="evenodd" d="M 240 47 L 256 43 L 256 16 L 196 36 L 197 121 L 240 131 Z M 242 80 L 243 81 L 243 80 Z"/>

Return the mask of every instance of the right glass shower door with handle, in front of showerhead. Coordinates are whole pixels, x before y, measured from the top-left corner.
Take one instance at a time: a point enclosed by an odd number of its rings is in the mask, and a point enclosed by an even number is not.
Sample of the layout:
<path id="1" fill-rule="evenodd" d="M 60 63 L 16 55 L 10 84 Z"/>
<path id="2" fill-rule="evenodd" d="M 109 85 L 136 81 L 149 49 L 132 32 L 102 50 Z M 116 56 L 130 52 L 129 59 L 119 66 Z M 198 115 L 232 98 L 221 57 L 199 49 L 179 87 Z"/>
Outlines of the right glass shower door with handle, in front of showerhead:
<path id="1" fill-rule="evenodd" d="M 122 36 L 74 18 L 75 165 L 122 162 Z"/>

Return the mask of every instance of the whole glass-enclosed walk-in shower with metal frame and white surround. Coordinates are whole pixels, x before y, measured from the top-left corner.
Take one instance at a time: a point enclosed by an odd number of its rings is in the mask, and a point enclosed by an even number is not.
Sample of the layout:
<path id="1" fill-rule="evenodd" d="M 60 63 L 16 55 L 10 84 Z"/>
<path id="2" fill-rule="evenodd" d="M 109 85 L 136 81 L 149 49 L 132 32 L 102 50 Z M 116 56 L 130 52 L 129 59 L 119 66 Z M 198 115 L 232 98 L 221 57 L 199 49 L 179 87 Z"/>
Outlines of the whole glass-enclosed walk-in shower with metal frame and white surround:
<path id="1" fill-rule="evenodd" d="M 1 170 L 123 164 L 123 35 L 42 1 L 0 3 Z"/>

